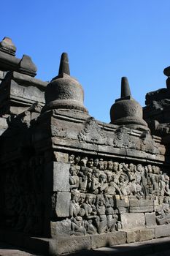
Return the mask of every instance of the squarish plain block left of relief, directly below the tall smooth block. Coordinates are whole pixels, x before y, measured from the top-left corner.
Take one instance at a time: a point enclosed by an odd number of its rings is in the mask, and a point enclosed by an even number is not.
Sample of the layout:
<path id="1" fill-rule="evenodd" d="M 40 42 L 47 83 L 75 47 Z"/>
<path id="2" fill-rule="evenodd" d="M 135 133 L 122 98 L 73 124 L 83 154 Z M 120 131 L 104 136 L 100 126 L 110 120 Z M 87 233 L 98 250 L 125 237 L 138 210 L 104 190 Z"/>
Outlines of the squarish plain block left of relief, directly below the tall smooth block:
<path id="1" fill-rule="evenodd" d="M 57 217 L 69 217 L 71 193 L 58 192 L 55 206 L 55 213 Z"/>

